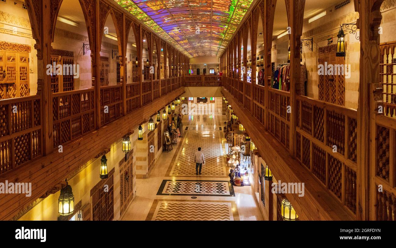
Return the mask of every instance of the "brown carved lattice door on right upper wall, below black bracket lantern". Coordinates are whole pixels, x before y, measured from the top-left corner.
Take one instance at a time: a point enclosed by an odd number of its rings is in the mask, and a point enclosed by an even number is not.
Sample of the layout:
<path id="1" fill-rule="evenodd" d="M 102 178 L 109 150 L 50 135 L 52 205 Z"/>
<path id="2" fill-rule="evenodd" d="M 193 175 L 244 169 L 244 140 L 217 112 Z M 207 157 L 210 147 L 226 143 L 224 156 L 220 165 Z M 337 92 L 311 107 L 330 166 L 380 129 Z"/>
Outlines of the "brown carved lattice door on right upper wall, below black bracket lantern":
<path id="1" fill-rule="evenodd" d="M 319 47 L 318 64 L 343 65 L 344 57 L 336 57 L 337 44 Z M 327 70 L 325 67 L 324 70 Z M 347 70 L 344 68 L 344 70 Z M 319 100 L 345 105 L 345 73 L 344 75 L 319 75 Z"/>

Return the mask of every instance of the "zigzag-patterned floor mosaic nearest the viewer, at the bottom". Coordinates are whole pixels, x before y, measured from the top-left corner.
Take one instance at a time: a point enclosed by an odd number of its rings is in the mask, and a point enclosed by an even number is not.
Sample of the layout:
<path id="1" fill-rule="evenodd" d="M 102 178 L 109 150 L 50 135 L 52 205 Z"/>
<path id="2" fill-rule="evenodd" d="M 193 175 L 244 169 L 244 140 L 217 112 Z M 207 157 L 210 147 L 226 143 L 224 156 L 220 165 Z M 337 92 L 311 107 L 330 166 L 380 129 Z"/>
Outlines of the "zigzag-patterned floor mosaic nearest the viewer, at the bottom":
<path id="1" fill-rule="evenodd" d="M 155 199 L 146 220 L 239 220 L 234 201 Z"/>

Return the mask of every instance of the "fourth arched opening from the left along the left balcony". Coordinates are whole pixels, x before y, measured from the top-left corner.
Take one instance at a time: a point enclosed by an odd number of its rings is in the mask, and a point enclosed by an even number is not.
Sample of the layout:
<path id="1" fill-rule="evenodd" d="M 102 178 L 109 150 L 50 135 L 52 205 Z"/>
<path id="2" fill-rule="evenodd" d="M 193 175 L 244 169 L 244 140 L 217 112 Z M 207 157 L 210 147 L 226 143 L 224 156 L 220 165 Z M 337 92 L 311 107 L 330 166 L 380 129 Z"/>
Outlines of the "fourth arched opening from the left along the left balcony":
<path id="1" fill-rule="evenodd" d="M 139 53 L 137 53 L 137 45 L 133 27 L 129 28 L 128 43 L 126 47 L 126 83 L 136 83 L 139 81 L 137 69 L 139 67 Z"/>

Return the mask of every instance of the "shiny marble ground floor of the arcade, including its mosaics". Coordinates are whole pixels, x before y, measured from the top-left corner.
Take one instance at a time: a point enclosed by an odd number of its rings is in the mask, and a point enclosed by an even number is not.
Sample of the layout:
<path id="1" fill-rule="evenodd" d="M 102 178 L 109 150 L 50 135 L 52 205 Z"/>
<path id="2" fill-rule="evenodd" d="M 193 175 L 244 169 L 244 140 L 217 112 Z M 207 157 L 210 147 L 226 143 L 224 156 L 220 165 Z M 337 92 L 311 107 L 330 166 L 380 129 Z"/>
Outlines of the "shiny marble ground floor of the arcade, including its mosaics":
<path id="1" fill-rule="evenodd" d="M 251 186 L 232 186 L 225 166 L 223 115 L 183 116 L 183 137 L 163 152 L 122 220 L 263 220 Z M 205 164 L 196 175 L 194 154 Z M 228 148 L 228 147 L 227 147 Z"/>

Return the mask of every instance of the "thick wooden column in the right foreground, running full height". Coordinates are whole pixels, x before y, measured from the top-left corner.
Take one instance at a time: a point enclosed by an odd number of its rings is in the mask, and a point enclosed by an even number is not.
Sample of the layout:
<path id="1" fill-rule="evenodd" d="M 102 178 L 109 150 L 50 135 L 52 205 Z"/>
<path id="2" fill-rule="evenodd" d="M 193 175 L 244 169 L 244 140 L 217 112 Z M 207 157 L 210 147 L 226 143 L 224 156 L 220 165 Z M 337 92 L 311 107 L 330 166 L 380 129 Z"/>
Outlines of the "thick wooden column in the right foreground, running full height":
<path id="1" fill-rule="evenodd" d="M 379 84 L 379 33 L 383 0 L 355 1 L 359 12 L 360 29 L 360 82 L 358 100 L 358 157 L 356 171 L 356 217 L 358 220 L 375 220 L 375 116 L 382 101 Z M 346 46 L 347 47 L 347 46 Z M 347 47 L 348 48 L 348 47 Z M 368 135 L 367 135 L 368 134 Z M 369 152 L 370 151 L 370 152 Z"/>

